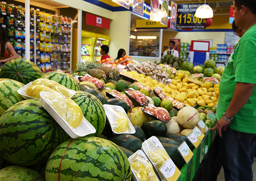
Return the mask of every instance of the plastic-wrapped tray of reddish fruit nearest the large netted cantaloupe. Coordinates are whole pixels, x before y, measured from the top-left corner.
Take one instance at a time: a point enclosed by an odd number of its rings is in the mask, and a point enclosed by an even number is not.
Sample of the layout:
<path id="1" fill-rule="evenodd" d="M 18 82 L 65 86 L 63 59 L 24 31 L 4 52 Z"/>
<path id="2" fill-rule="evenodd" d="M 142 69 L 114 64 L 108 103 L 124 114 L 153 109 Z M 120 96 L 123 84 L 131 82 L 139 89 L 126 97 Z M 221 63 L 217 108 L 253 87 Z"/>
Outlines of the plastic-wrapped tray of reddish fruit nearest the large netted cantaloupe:
<path id="1" fill-rule="evenodd" d="M 160 121 L 166 122 L 171 119 L 168 112 L 160 107 L 155 107 L 153 104 L 148 104 L 142 109 L 147 115 L 153 119 L 158 119 Z"/>

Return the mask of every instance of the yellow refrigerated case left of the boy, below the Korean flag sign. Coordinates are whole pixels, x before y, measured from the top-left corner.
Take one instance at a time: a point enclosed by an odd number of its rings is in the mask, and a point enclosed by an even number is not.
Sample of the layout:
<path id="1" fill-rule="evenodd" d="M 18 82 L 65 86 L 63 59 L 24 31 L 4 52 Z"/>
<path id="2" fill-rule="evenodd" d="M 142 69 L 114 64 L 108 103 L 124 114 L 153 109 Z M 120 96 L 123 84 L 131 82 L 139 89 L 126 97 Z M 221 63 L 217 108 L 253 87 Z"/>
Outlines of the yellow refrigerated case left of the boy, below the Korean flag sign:
<path id="1" fill-rule="evenodd" d="M 77 29 L 73 28 L 73 60 L 72 67 L 76 69 L 77 63 Z M 97 35 L 96 33 L 82 30 L 82 39 L 81 39 L 81 61 L 94 61 L 94 47 L 96 44 Z"/>

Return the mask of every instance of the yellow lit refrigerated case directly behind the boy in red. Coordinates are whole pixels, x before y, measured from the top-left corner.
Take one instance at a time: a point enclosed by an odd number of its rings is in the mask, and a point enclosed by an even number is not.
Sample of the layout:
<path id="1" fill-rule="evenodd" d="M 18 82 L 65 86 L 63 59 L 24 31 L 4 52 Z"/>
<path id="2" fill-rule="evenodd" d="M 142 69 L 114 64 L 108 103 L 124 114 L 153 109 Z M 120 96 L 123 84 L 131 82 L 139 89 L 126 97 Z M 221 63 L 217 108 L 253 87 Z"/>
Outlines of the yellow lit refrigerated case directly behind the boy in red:
<path id="1" fill-rule="evenodd" d="M 101 60 L 101 45 L 109 45 L 110 44 L 110 36 L 96 33 L 97 42 L 94 48 L 94 60 Z"/>

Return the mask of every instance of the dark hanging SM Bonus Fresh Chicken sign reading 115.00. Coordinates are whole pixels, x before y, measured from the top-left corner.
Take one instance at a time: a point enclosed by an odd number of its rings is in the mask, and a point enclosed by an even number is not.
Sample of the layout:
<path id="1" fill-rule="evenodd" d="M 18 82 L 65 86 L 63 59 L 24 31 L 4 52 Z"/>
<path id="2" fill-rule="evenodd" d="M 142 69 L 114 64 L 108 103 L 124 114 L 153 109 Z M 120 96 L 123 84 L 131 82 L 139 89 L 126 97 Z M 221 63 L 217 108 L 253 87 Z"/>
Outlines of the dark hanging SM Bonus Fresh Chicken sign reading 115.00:
<path id="1" fill-rule="evenodd" d="M 196 18 L 196 9 L 201 4 L 178 4 L 176 28 L 205 28 L 206 19 Z"/>

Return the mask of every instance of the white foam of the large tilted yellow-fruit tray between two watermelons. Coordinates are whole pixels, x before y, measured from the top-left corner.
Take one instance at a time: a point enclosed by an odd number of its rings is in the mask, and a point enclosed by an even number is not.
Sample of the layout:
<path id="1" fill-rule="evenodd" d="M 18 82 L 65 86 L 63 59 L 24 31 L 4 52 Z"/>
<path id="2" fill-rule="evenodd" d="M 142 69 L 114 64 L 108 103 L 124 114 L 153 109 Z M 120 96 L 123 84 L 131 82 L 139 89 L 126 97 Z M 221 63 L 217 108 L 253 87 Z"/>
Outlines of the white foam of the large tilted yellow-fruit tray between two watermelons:
<path id="1" fill-rule="evenodd" d="M 91 123 L 84 118 L 79 127 L 73 128 L 68 125 L 68 123 L 60 116 L 59 113 L 46 101 L 46 94 L 50 92 L 42 91 L 40 92 L 40 102 L 44 109 L 55 119 L 55 121 L 64 129 L 64 131 L 72 138 L 83 137 L 96 133 L 96 129 L 91 125 Z"/>

